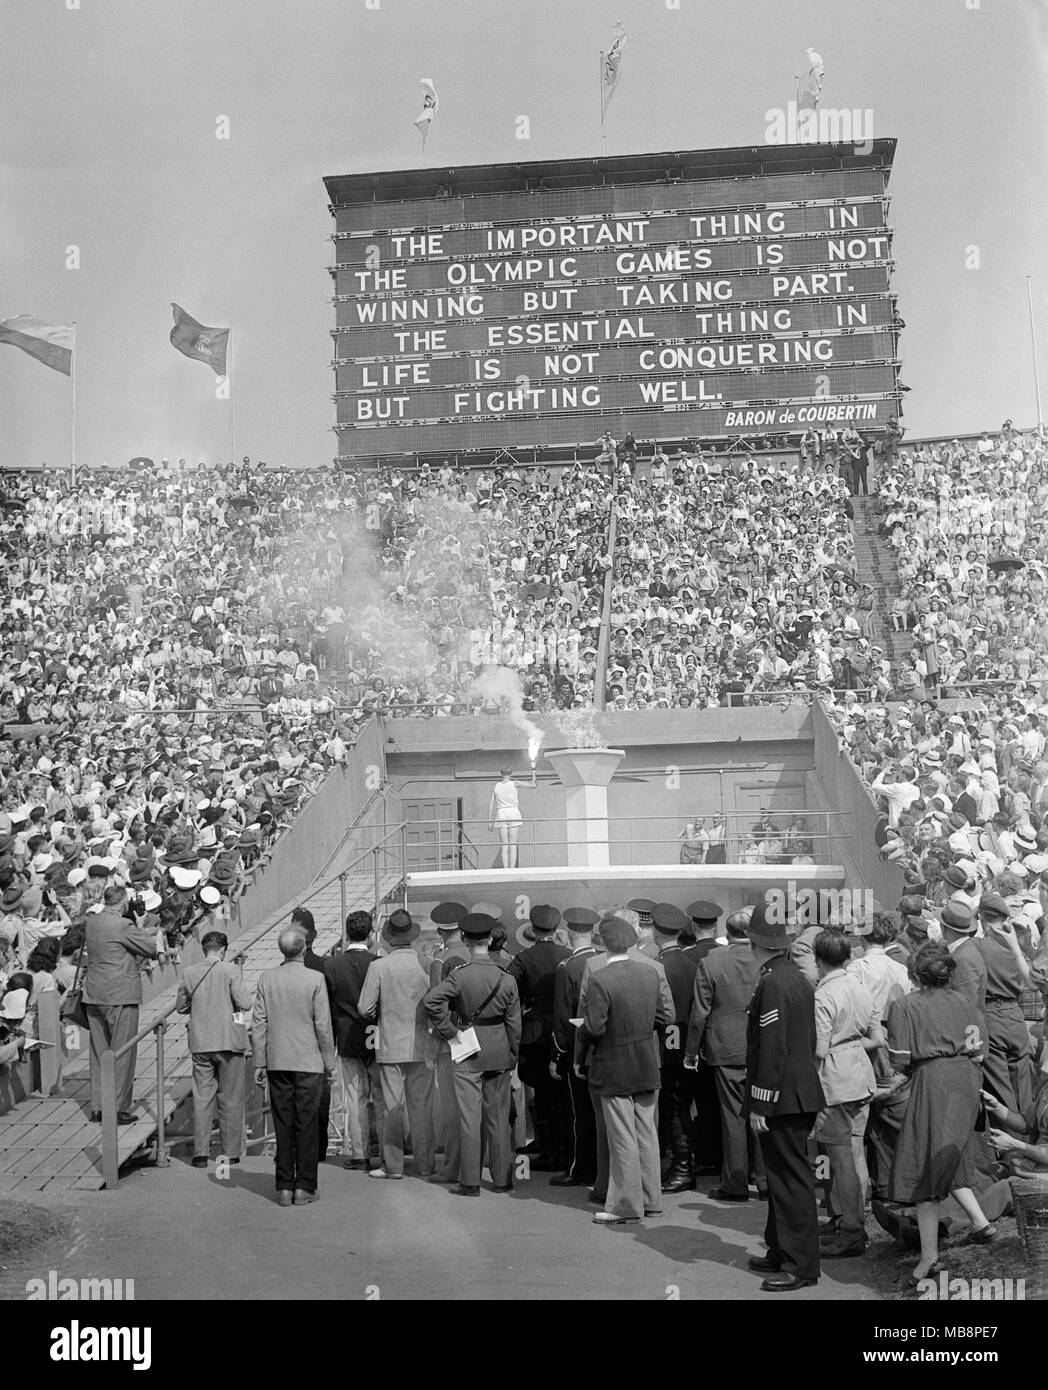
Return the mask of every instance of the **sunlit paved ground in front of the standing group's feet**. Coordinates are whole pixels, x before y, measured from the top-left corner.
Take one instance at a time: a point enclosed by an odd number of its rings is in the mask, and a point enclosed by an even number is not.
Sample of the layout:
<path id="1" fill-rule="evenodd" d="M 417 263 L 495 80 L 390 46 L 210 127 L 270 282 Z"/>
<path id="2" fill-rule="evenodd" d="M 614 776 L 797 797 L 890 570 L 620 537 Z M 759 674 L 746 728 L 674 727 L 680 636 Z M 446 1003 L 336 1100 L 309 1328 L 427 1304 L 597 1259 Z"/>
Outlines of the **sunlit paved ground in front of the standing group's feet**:
<path id="1" fill-rule="evenodd" d="M 218 1182 L 175 1158 L 143 1168 L 118 1193 L 47 1193 L 75 1213 L 75 1234 L 0 1266 L 0 1297 L 25 1280 L 133 1279 L 136 1298 L 759 1298 L 746 1257 L 762 1251 L 763 1204 L 701 1193 L 666 1198 L 666 1215 L 602 1230 L 577 1188 L 548 1175 L 511 1195 L 460 1198 L 414 1177 L 381 1183 L 321 1166 L 321 1200 L 282 1209 L 272 1161 L 247 1158 Z M 703 1184 L 710 1186 L 710 1184 Z M 866 1261 L 827 1266 L 796 1301 L 876 1298 Z"/>

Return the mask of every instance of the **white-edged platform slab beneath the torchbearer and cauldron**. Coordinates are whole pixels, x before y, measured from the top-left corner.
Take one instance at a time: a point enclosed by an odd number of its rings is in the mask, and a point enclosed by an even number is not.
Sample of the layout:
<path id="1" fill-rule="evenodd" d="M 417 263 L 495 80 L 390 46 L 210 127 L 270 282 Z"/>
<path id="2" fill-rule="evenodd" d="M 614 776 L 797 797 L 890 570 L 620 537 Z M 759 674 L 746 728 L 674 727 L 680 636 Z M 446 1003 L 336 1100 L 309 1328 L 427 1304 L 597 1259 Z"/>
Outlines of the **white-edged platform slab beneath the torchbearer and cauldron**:
<path id="1" fill-rule="evenodd" d="M 767 888 L 842 888 L 844 865 L 612 865 L 609 867 L 459 869 L 409 873 L 407 901 L 421 915 L 452 899 L 473 906 L 486 899 L 502 908 L 503 922 L 523 920 L 528 903 L 557 908 L 603 908 L 630 898 L 653 898 L 687 908 L 712 899 L 726 912 L 755 902 Z"/>

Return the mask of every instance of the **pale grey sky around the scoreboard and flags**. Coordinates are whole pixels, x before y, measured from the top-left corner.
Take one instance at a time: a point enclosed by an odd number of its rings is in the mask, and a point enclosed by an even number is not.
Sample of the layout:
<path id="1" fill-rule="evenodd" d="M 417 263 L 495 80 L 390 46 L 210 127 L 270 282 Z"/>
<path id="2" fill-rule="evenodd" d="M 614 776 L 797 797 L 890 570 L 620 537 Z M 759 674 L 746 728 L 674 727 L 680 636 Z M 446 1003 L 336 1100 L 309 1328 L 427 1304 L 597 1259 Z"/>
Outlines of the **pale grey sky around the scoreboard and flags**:
<path id="1" fill-rule="evenodd" d="M 78 461 L 228 459 L 235 425 L 238 457 L 329 463 L 322 177 L 599 154 L 616 21 L 609 154 L 764 143 L 816 47 L 823 104 L 898 139 L 909 434 L 1035 423 L 1040 0 L 0 0 L 0 318 L 78 324 Z M 441 96 L 424 160 L 423 76 Z M 172 302 L 234 325 L 232 407 L 171 348 Z M 68 464 L 69 407 L 65 377 L 0 348 L 0 464 Z"/>

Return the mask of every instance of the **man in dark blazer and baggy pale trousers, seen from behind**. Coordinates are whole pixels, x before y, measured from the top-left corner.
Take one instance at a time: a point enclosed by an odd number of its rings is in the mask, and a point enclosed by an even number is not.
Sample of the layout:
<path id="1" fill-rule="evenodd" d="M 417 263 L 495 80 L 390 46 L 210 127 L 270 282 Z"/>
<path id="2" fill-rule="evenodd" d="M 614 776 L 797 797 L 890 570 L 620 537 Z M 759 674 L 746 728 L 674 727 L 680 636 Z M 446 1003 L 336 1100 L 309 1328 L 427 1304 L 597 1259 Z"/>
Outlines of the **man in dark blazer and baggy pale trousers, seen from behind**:
<path id="1" fill-rule="evenodd" d="M 628 956 L 637 940 L 628 922 L 603 917 L 600 937 L 607 962 L 587 981 L 578 1041 L 592 1048 L 589 1084 L 607 1130 L 607 1200 L 593 1220 L 620 1226 L 662 1215 L 655 1029 L 673 1023 L 673 1006 L 663 998 L 659 974 Z"/>

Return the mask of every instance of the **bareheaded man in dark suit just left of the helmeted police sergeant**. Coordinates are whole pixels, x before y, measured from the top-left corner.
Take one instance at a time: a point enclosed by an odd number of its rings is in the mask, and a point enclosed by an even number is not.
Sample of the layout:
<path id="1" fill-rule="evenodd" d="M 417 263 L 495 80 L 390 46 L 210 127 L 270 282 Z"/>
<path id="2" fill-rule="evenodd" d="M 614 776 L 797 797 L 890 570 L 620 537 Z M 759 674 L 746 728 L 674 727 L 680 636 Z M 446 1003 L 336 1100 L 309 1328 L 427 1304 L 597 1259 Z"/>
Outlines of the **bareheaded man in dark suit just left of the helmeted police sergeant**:
<path id="1" fill-rule="evenodd" d="M 767 1197 L 764 1161 L 756 1134 L 746 1125 L 746 1009 L 758 986 L 758 963 L 746 935 L 751 909 L 732 912 L 727 920 L 728 944 L 701 962 L 695 974 L 695 999 L 688 1027 L 685 1066 L 705 1056 L 713 1070 L 720 1102 L 724 1158 L 720 1187 L 709 1195 L 720 1202 L 749 1201 L 749 1175 L 758 1193 Z"/>

